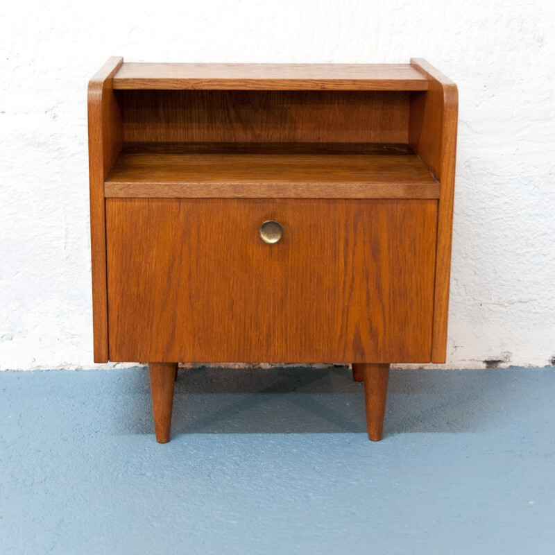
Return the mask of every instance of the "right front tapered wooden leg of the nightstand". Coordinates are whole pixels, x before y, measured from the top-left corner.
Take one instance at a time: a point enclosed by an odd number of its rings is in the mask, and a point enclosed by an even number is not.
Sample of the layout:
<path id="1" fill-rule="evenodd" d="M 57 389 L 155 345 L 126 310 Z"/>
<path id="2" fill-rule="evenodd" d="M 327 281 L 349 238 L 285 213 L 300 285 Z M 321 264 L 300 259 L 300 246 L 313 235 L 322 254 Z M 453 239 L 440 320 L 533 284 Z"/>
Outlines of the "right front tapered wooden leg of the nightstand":
<path id="1" fill-rule="evenodd" d="M 360 364 L 364 375 L 364 400 L 366 401 L 366 425 L 368 438 L 382 439 L 384 413 L 386 410 L 389 364 Z"/>

